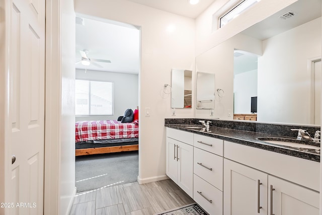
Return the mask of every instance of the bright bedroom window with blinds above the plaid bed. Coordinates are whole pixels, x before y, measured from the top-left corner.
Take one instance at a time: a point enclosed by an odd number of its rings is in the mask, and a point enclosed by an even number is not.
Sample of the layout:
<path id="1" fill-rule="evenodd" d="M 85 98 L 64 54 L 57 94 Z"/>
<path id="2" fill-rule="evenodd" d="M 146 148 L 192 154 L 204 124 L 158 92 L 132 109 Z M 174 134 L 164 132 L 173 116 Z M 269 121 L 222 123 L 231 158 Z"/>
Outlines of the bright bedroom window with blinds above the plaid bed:
<path id="1" fill-rule="evenodd" d="M 76 115 L 113 115 L 113 83 L 76 80 Z"/>

